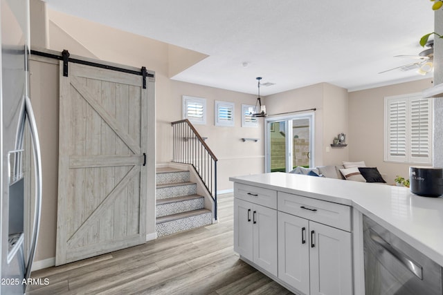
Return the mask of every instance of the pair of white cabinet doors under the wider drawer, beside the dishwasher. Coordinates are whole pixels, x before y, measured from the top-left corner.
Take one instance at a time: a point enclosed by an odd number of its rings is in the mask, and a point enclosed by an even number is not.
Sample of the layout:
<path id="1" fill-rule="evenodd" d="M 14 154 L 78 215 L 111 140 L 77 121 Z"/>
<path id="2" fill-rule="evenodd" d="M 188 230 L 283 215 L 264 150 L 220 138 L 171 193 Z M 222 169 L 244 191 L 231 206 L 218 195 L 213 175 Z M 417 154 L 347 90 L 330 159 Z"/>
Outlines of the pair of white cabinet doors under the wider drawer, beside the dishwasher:
<path id="1" fill-rule="evenodd" d="M 279 211 L 278 278 L 304 294 L 352 294 L 351 234 Z"/>

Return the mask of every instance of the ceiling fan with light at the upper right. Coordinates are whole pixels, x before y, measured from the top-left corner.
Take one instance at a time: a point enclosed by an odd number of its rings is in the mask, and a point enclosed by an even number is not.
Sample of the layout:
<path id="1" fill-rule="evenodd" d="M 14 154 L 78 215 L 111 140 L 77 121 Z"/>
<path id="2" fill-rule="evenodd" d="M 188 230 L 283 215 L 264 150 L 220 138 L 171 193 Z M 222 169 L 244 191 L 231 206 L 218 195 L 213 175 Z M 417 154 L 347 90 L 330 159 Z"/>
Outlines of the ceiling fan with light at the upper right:
<path id="1" fill-rule="evenodd" d="M 397 68 L 390 68 L 389 70 L 383 70 L 381 73 L 389 72 L 390 70 L 401 70 L 406 72 L 407 70 L 417 70 L 420 75 L 426 75 L 433 70 L 434 61 L 434 40 L 429 40 L 426 45 L 427 48 L 418 55 L 396 55 L 395 57 L 404 57 L 409 59 L 419 59 L 419 61 L 412 64 L 406 64 L 404 66 L 397 66 Z"/>

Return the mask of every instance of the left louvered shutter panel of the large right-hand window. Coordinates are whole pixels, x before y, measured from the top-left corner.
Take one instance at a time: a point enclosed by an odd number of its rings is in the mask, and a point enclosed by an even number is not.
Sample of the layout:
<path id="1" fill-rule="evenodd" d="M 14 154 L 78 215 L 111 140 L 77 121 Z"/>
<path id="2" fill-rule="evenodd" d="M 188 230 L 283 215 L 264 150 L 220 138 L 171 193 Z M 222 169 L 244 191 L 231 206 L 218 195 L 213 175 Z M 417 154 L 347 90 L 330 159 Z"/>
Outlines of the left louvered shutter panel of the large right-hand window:
<path id="1" fill-rule="evenodd" d="M 406 102 L 393 100 L 388 104 L 389 124 L 389 158 L 406 160 Z"/>

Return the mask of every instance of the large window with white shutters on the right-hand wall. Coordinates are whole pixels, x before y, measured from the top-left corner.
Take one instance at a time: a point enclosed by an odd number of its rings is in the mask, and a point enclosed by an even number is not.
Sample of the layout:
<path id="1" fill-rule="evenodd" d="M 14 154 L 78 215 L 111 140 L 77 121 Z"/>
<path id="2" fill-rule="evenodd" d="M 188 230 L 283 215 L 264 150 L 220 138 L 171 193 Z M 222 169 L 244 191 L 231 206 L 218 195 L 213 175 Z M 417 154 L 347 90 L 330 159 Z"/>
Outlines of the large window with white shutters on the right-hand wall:
<path id="1" fill-rule="evenodd" d="M 432 101 L 421 95 L 385 98 L 385 160 L 431 164 Z"/>

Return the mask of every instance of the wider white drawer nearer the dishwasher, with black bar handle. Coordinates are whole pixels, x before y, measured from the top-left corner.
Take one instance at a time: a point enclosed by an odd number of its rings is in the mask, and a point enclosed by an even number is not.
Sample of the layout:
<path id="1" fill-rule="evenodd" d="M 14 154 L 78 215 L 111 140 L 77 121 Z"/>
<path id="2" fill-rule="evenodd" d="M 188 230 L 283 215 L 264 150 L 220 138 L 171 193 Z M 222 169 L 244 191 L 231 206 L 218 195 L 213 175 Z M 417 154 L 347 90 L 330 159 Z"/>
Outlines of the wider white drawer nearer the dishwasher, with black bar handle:
<path id="1" fill-rule="evenodd" d="M 278 211 L 351 231 L 349 206 L 278 192 Z"/>

